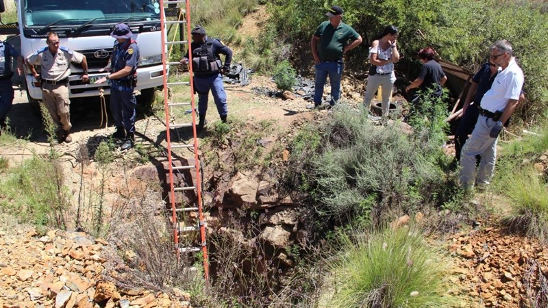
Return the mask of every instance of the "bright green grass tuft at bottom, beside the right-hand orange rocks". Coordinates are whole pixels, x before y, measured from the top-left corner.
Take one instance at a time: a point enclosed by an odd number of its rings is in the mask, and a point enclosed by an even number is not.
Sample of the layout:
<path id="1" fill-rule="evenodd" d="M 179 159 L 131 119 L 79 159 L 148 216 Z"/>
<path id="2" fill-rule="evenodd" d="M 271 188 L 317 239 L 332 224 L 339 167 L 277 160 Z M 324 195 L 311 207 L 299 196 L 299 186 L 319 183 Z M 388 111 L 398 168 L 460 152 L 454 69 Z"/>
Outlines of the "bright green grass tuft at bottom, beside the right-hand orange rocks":
<path id="1" fill-rule="evenodd" d="M 328 285 L 320 307 L 449 307 L 447 262 L 419 231 L 387 228 L 342 238 L 343 249 L 326 260 Z"/>

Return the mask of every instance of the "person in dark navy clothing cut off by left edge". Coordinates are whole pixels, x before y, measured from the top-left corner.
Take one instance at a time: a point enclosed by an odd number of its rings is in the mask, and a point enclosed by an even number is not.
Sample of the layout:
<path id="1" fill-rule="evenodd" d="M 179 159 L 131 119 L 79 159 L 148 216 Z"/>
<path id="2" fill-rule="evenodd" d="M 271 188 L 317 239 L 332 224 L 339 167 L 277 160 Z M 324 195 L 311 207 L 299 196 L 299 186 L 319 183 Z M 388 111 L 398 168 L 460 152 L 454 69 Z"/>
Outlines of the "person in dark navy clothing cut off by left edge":
<path id="1" fill-rule="evenodd" d="M 12 109 L 14 90 L 12 86 L 12 57 L 17 60 L 17 74 L 23 71 L 23 57 L 8 42 L 0 40 L 0 135 L 5 129 L 5 115 Z"/>

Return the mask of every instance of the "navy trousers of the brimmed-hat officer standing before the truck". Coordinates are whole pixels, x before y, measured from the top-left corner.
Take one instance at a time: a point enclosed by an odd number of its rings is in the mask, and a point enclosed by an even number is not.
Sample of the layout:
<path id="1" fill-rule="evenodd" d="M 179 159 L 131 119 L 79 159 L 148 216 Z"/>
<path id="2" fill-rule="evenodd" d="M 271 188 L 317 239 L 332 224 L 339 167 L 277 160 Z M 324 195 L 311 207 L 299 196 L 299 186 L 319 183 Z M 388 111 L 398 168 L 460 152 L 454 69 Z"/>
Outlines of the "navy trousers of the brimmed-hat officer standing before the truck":
<path id="1" fill-rule="evenodd" d="M 115 86 L 110 88 L 110 111 L 114 125 L 124 127 L 127 133 L 135 133 L 136 105 L 133 90 L 121 91 Z"/>

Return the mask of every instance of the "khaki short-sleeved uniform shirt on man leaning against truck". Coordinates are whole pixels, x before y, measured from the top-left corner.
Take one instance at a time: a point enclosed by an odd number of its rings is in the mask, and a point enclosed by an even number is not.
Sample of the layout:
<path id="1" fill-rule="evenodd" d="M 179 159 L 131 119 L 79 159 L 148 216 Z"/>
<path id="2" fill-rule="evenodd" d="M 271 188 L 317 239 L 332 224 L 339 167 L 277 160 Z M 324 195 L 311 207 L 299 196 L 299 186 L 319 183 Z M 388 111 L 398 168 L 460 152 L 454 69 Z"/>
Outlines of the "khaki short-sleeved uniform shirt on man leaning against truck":
<path id="1" fill-rule="evenodd" d="M 44 47 L 27 57 L 29 64 L 42 66 L 40 75 L 43 79 L 53 81 L 69 77 L 71 75 L 70 62 L 82 63 L 82 60 L 84 60 L 82 53 L 63 46 L 59 47 L 55 54 L 51 54 L 49 48 Z"/>

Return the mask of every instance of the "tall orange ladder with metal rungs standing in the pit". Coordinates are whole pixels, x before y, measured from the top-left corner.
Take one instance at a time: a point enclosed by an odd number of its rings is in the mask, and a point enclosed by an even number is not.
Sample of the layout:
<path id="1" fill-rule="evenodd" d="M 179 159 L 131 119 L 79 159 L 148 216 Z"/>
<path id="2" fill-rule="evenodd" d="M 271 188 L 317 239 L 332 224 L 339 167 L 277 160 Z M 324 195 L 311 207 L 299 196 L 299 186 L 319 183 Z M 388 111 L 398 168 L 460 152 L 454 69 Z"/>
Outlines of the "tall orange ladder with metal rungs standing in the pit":
<path id="1" fill-rule="evenodd" d="M 169 6 L 168 6 L 169 5 Z M 175 240 L 175 248 L 177 251 L 177 260 L 180 261 L 182 255 L 188 255 L 201 252 L 201 259 L 203 259 L 203 274 L 206 281 L 209 279 L 209 262 L 208 262 L 208 246 L 206 242 L 206 223 L 203 216 L 203 204 L 202 204 L 202 175 L 201 175 L 201 164 L 198 155 L 198 140 L 196 136 L 196 106 L 194 99 L 194 84 L 192 82 L 192 51 L 190 50 L 190 44 L 188 40 L 173 40 L 169 41 L 166 34 L 167 27 L 166 25 L 175 25 L 177 27 L 186 26 L 186 37 L 190 34 L 190 2 L 189 0 L 169 0 L 164 1 L 160 0 L 160 7 L 163 10 L 171 9 L 173 10 L 173 5 L 177 5 L 180 9 L 181 14 L 184 14 L 186 18 L 182 19 L 177 18 L 176 21 L 166 21 L 166 16 L 162 12 L 160 21 L 162 25 L 162 45 L 166 47 L 173 47 L 173 45 L 182 45 L 185 44 L 188 47 L 188 73 L 190 74 L 190 81 L 168 81 L 169 66 L 179 66 L 182 65 L 180 62 L 169 62 L 167 58 L 169 55 L 164 53 L 162 55 L 162 64 L 164 66 L 164 110 L 166 114 L 166 142 L 167 142 L 167 158 L 169 164 L 169 185 L 170 185 L 170 194 L 169 198 L 171 199 L 171 222 L 173 223 L 173 238 Z M 184 5 L 184 7 L 183 7 Z M 175 39 L 175 38 L 174 38 Z M 190 92 L 190 102 L 173 102 L 169 101 L 171 95 L 169 94 L 170 86 L 179 86 L 185 85 L 189 86 L 188 91 Z M 177 107 L 190 107 L 192 110 L 192 123 L 180 123 L 180 124 L 171 124 L 170 114 L 172 108 Z M 180 129 L 180 128 L 191 128 L 192 129 L 192 142 L 188 144 L 181 142 L 172 142 L 171 140 L 171 130 Z M 178 166 L 175 164 L 173 159 L 173 150 L 174 149 L 188 149 L 194 153 L 194 164 L 188 164 L 188 166 Z M 192 184 L 188 184 L 188 181 L 184 181 L 182 185 L 175 183 L 174 178 L 176 175 L 182 174 L 182 172 L 189 172 L 191 170 L 195 171 L 195 181 Z M 196 194 L 196 203 L 195 204 L 185 204 L 181 202 L 177 204 L 176 196 L 177 194 L 185 194 L 188 191 L 194 191 Z M 182 200 L 182 198 L 179 198 Z M 186 225 L 186 218 L 192 213 L 197 213 L 197 223 L 195 225 Z M 183 241 L 182 239 L 186 238 L 186 235 L 199 232 L 199 239 L 191 241 Z M 186 242 L 186 243 L 183 243 Z"/>

